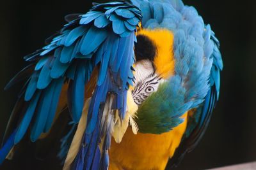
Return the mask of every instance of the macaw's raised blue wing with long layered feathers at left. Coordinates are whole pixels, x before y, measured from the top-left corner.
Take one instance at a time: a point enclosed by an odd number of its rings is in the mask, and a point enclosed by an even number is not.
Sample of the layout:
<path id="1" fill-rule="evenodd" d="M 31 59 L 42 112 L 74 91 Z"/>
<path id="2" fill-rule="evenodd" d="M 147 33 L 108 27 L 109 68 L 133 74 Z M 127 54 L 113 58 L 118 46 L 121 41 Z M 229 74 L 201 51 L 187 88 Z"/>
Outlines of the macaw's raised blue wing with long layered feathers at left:
<path id="1" fill-rule="evenodd" d="M 67 87 L 67 100 L 64 101 L 72 120 L 79 122 L 85 87 L 90 87 L 87 83 L 93 70 L 97 70 L 97 84 L 93 88 L 83 137 L 85 147 L 77 155 L 75 167 L 92 169 L 99 166 L 96 164 L 99 162 L 104 169 L 108 166 L 111 134 L 109 122 L 102 114 L 106 110 L 105 103 L 111 102 L 109 110 L 118 111 L 119 117 L 124 118 L 127 89 L 133 79 L 134 32 L 140 19 L 140 10 L 131 4 L 96 4 L 84 15 L 68 17 L 70 22 L 47 39 L 47 46 L 24 57 L 33 64 L 17 74 L 7 86 L 24 75 L 29 77 L 13 109 L 0 150 L 0 162 L 28 129 L 31 141 L 51 129 L 63 85 Z M 99 143 L 103 143 L 101 148 Z"/>

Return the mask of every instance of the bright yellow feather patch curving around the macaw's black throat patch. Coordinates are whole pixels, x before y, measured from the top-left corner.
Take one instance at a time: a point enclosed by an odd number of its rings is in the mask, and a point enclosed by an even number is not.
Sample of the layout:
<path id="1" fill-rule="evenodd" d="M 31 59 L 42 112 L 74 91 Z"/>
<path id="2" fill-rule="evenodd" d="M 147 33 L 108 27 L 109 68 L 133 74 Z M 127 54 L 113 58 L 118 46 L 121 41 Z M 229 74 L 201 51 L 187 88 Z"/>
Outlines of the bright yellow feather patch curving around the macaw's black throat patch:
<path id="1" fill-rule="evenodd" d="M 156 46 L 156 56 L 153 60 L 156 73 L 164 79 L 170 78 L 175 67 L 173 32 L 168 29 L 140 29 L 137 36 L 140 35 L 147 36 Z"/>

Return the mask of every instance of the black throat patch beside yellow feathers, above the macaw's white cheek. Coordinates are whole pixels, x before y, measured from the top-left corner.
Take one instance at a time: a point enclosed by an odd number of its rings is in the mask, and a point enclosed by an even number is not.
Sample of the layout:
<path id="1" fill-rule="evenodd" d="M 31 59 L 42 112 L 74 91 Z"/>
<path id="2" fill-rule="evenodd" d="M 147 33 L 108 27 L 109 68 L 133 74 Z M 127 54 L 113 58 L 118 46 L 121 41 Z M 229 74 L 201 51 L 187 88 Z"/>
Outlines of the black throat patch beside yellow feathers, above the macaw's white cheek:
<path id="1" fill-rule="evenodd" d="M 137 43 L 134 44 L 134 53 L 136 56 L 136 61 L 139 60 L 151 60 L 154 61 L 156 56 L 156 45 L 147 36 L 138 35 Z"/>

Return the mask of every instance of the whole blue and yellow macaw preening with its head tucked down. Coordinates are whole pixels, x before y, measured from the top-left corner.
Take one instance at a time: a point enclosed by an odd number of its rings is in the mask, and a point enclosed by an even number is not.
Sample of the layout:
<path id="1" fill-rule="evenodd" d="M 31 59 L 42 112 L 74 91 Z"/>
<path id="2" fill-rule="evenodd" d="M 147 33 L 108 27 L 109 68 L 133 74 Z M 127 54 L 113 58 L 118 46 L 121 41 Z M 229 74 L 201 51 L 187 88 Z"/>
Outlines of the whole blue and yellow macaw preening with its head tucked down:
<path id="1" fill-rule="evenodd" d="M 210 25 L 181 0 L 95 3 L 66 20 L 6 86 L 28 78 L 0 162 L 24 136 L 52 136 L 68 110 L 63 169 L 177 164 L 202 138 L 219 97 L 223 64 Z"/>

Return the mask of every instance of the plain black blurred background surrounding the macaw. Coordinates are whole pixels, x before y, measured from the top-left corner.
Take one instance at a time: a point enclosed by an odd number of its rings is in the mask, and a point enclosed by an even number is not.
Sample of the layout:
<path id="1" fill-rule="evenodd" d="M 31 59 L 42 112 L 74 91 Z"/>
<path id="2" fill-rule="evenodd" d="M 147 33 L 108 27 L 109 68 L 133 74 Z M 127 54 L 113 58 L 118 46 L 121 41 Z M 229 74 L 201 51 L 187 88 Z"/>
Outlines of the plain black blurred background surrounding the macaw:
<path id="1" fill-rule="evenodd" d="M 209 129 L 179 169 L 209 169 L 256 160 L 256 1 L 186 0 L 195 6 L 221 42 L 221 93 Z M 4 85 L 26 64 L 22 57 L 44 45 L 69 13 L 85 13 L 88 0 L 3 1 L 0 6 L 0 136 L 20 87 Z M 1 141 L 1 140 L 0 140 Z M 54 157 L 31 160 L 31 153 L 0 169 L 60 169 Z"/>

